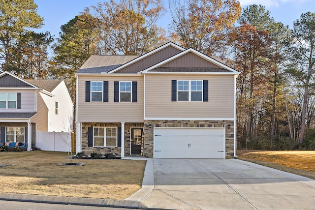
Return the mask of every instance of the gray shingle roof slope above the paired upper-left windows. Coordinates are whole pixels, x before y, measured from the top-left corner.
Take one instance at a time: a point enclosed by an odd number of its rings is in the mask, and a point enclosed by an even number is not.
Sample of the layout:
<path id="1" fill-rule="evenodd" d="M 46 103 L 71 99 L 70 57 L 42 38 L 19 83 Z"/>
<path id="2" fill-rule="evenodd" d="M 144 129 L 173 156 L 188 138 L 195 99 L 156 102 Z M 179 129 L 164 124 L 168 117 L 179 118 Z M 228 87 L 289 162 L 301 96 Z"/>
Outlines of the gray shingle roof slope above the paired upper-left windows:
<path id="1" fill-rule="evenodd" d="M 76 73 L 109 72 L 138 56 L 96 56 L 92 55 Z"/>

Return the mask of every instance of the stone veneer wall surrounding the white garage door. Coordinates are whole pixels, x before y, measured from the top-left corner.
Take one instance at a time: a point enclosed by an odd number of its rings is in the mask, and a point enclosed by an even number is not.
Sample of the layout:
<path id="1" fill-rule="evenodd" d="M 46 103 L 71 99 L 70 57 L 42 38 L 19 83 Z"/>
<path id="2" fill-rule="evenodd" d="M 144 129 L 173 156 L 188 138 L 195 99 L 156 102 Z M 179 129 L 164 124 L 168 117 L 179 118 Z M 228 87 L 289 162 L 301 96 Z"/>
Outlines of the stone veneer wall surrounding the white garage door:
<path id="1" fill-rule="evenodd" d="M 149 128 L 151 124 L 151 129 Z M 227 125 L 230 124 L 230 129 Z M 225 120 L 144 120 L 144 156 L 153 158 L 154 127 L 225 127 L 225 158 L 234 156 L 234 123 Z"/>

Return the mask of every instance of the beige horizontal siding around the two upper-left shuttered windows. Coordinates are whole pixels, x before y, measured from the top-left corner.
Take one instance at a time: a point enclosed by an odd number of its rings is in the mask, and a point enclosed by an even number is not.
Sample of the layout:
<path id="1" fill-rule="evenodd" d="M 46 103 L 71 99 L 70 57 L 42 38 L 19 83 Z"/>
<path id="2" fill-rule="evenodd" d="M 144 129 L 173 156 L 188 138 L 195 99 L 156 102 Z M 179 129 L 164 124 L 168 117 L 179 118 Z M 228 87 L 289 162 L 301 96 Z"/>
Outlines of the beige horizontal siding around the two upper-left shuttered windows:
<path id="1" fill-rule="evenodd" d="M 86 81 L 108 81 L 109 102 L 85 102 Z M 137 102 L 114 102 L 114 81 L 137 81 Z M 79 76 L 78 122 L 143 122 L 143 76 Z"/>

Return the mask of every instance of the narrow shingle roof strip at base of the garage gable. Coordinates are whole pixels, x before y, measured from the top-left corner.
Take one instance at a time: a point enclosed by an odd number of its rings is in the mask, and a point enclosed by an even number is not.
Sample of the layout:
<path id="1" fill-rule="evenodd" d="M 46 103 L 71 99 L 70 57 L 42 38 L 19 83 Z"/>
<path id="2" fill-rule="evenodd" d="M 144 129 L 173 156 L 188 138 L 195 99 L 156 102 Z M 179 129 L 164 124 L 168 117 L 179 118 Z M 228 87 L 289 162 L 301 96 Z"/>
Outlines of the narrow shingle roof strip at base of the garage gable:
<path id="1" fill-rule="evenodd" d="M 153 72 L 231 72 L 224 68 L 205 68 L 205 67 L 193 67 L 193 68 L 155 68 L 150 71 Z"/>

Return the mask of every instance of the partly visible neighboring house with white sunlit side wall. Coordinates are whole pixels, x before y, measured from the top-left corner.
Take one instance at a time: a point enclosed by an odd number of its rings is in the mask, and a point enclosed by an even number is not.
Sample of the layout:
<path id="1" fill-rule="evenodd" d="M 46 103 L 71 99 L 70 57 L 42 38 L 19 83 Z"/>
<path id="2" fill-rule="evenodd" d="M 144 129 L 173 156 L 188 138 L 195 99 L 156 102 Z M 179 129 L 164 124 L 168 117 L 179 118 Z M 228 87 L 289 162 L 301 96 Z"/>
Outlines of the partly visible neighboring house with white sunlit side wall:
<path id="1" fill-rule="evenodd" d="M 0 142 L 35 146 L 36 131 L 69 132 L 73 104 L 63 80 L 0 73 Z"/>

